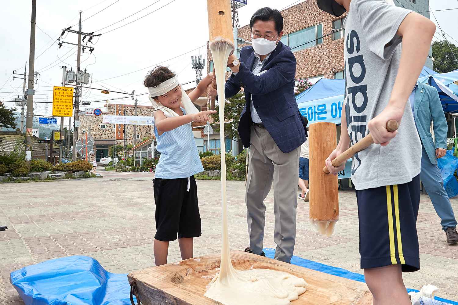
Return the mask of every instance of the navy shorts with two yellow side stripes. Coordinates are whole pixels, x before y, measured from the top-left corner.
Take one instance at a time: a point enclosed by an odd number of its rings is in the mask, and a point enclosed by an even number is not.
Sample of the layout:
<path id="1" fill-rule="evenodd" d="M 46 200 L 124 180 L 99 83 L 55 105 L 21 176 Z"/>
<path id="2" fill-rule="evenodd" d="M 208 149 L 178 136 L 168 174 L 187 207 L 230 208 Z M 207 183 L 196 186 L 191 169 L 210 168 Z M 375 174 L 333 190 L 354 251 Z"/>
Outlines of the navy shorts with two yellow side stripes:
<path id="1" fill-rule="evenodd" d="M 420 175 L 409 183 L 356 191 L 356 199 L 361 268 L 401 264 L 403 272 L 420 270 Z"/>

